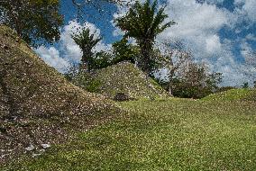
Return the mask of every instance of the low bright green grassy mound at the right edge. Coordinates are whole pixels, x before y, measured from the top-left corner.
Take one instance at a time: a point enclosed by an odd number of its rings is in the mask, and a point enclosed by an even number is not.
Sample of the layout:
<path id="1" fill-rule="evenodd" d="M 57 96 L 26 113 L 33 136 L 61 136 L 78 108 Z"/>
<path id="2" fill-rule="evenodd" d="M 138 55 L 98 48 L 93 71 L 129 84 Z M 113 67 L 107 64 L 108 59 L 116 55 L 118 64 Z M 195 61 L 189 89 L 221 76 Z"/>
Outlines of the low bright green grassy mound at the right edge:
<path id="1" fill-rule="evenodd" d="M 256 101 L 255 89 L 231 89 L 221 93 L 210 94 L 203 98 L 206 101 Z"/>

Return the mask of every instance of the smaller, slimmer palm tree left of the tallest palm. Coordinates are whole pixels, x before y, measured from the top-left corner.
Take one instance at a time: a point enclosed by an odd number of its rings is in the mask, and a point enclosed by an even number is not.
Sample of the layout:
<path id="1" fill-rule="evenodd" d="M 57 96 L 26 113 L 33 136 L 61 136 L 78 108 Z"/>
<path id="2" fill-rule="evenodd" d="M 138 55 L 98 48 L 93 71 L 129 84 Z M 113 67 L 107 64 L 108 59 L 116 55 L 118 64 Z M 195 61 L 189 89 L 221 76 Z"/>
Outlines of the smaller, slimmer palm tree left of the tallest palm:
<path id="1" fill-rule="evenodd" d="M 88 28 L 83 28 L 81 31 L 78 31 L 78 33 L 71 35 L 71 37 L 78 44 L 79 48 L 82 49 L 82 66 L 84 69 L 90 71 L 92 69 L 94 55 L 92 49 L 102 38 L 96 36 L 96 32 L 90 34 L 90 29 Z"/>

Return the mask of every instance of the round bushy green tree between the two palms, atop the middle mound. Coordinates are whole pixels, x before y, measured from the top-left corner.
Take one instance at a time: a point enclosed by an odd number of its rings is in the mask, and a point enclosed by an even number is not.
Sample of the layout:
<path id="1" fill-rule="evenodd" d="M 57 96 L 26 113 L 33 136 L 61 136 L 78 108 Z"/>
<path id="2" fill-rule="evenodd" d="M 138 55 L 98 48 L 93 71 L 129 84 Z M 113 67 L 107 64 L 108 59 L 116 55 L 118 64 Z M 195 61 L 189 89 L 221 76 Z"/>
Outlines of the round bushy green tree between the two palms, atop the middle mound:
<path id="1" fill-rule="evenodd" d="M 129 44 L 125 38 L 114 42 L 112 47 L 114 53 L 113 64 L 124 60 L 135 64 L 137 57 L 140 55 L 139 48 L 136 45 Z"/>

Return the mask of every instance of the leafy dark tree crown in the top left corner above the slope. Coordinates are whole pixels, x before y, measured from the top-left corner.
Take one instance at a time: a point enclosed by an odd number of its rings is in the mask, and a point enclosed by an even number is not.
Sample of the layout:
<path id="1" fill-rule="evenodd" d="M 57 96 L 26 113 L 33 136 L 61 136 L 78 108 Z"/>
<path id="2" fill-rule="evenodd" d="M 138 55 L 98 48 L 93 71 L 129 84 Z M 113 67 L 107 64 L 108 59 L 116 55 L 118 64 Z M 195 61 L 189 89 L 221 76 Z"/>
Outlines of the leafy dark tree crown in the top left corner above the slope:
<path id="1" fill-rule="evenodd" d="M 32 46 L 59 40 L 59 0 L 0 0 L 0 23 Z"/>

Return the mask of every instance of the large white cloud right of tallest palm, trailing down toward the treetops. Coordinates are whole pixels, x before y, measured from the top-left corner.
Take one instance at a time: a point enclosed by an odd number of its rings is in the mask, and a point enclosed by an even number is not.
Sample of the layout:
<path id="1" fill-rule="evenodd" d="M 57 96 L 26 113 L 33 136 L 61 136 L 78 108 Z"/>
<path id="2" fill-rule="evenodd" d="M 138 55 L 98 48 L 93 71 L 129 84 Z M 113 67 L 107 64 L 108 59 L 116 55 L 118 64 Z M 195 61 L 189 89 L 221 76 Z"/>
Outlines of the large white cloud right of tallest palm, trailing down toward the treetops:
<path id="1" fill-rule="evenodd" d="M 232 40 L 221 40 L 219 31 L 233 27 L 233 14 L 215 4 L 223 1 L 197 3 L 194 0 L 169 0 L 166 13 L 178 24 L 164 31 L 158 40 L 169 37 L 184 40 L 196 61 L 206 62 L 211 70 L 224 73 L 224 85 L 237 85 L 245 79 L 240 63 L 235 61 Z"/>

